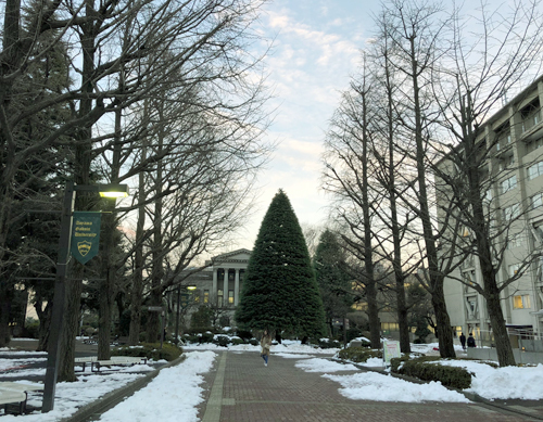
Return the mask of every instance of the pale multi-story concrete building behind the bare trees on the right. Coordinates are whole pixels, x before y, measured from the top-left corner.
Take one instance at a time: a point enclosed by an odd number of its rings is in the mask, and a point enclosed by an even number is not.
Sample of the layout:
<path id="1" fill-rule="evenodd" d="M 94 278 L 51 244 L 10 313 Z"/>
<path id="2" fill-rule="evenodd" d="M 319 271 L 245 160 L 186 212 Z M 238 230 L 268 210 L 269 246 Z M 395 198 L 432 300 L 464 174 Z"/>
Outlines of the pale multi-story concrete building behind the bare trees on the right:
<path id="1" fill-rule="evenodd" d="M 489 209 L 492 238 L 503 260 L 498 281 L 522 271 L 522 276 L 502 292 L 502 307 L 509 332 L 543 337 L 543 76 L 509 101 L 484 123 L 478 140 L 491 151 L 482 172 L 489 178 Z M 446 158 L 443 161 L 446 163 Z M 446 164 L 444 164 L 446 166 Z M 501 230 L 505 229 L 506 230 Z M 463 232 L 464 230 L 464 232 Z M 469 236 L 462 229 L 460 236 Z M 539 256 L 539 257 L 538 257 Z M 527 263 L 527 257 L 531 264 Z M 496 259 L 497 263 L 497 259 Z M 456 280 L 455 280 L 456 279 Z M 462 279 L 465 283 L 457 280 Z M 477 256 L 469 256 L 445 280 L 445 297 L 452 324 L 457 333 L 472 332 L 490 343 L 491 325 L 484 299 L 470 283 L 481 284 Z M 515 337 L 513 337 L 515 338 Z M 514 344 L 515 346 L 515 344 Z"/>

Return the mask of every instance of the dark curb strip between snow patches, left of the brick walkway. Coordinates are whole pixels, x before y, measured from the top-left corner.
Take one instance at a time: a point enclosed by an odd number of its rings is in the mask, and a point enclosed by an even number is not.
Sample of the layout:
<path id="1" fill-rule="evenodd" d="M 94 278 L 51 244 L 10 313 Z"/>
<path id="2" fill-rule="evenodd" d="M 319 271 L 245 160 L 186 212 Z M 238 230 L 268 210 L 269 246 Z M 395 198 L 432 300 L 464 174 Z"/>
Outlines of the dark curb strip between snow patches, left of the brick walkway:
<path id="1" fill-rule="evenodd" d="M 74 414 L 68 418 L 61 419 L 59 422 L 86 422 L 89 420 L 93 420 L 91 418 L 96 418 L 100 413 L 103 413 L 105 410 L 114 407 L 115 405 L 123 401 L 125 398 L 131 396 L 138 389 L 143 388 L 147 384 L 149 384 L 159 373 L 169 367 L 175 367 L 176 365 L 181 363 L 185 360 L 185 356 L 181 355 L 176 360 L 173 360 L 163 367 L 155 369 L 154 371 L 148 373 L 147 375 L 121 387 L 113 392 L 105 394 L 103 397 L 98 400 L 81 407 Z"/>

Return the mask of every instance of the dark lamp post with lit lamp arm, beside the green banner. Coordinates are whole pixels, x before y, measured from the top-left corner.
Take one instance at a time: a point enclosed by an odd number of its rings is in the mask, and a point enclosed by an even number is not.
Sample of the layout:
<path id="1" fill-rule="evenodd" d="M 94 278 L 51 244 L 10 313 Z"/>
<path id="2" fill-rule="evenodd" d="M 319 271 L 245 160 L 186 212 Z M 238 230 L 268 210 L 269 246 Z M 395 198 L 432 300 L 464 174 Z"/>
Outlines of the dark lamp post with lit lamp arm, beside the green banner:
<path id="1" fill-rule="evenodd" d="M 66 183 L 62 205 L 61 233 L 59 240 L 59 256 L 56 258 L 56 276 L 54 280 L 53 309 L 51 315 L 51 331 L 49 334 L 46 380 L 43 385 L 43 402 L 41 411 L 48 412 L 54 407 L 54 391 L 59 374 L 59 358 L 64 317 L 65 281 L 70 261 L 72 241 L 72 222 L 76 192 L 99 192 L 104 197 L 123 197 L 128 195 L 127 184 L 75 184 Z"/>

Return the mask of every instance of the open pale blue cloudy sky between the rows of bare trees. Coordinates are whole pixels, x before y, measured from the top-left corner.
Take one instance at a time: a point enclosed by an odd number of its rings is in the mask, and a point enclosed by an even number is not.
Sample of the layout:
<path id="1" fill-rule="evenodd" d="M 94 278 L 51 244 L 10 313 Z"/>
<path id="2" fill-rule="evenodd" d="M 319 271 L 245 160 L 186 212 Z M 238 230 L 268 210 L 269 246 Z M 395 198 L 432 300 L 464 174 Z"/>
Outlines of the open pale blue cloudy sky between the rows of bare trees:
<path id="1" fill-rule="evenodd" d="M 371 12 L 379 9 L 377 0 L 276 0 L 264 8 L 261 30 L 274 39 L 265 64 L 275 97 L 268 103 L 275 119 L 266 137 L 278 146 L 258 177 L 255 214 L 239 247 L 253 247 L 279 189 L 300 222 L 325 221 L 327 199 L 319 190 L 325 131 L 371 36 Z"/>

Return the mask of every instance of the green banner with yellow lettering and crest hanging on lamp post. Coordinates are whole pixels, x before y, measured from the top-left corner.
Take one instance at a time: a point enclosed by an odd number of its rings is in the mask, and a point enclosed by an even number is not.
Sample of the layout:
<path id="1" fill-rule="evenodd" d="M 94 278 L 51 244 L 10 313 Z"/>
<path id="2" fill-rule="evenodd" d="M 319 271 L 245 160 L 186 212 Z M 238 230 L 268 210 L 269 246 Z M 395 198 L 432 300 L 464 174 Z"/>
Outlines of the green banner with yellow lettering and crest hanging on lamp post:
<path id="1" fill-rule="evenodd" d="M 75 212 L 72 225 L 72 256 L 87 264 L 98 255 L 101 213 Z"/>

